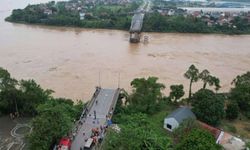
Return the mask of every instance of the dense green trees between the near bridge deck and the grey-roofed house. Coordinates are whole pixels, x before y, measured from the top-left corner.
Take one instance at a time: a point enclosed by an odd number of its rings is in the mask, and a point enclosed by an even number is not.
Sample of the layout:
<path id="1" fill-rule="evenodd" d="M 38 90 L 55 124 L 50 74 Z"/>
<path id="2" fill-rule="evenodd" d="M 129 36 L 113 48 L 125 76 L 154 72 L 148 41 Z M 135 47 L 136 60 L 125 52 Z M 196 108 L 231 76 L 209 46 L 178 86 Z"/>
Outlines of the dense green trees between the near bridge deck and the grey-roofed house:
<path id="1" fill-rule="evenodd" d="M 155 123 L 160 123 L 162 126 L 162 119 L 160 122 L 150 120 L 152 115 L 163 110 L 167 105 L 161 93 L 164 86 L 157 80 L 156 77 L 149 77 L 148 79 L 137 78 L 131 82 L 133 92 L 130 95 L 122 94 L 121 98 L 126 97 L 126 104 L 119 99 L 113 118 L 114 122 L 121 127 L 121 131 L 108 133 L 104 141 L 104 149 L 165 150 L 168 148 L 170 139 L 161 128 L 155 127 Z"/>

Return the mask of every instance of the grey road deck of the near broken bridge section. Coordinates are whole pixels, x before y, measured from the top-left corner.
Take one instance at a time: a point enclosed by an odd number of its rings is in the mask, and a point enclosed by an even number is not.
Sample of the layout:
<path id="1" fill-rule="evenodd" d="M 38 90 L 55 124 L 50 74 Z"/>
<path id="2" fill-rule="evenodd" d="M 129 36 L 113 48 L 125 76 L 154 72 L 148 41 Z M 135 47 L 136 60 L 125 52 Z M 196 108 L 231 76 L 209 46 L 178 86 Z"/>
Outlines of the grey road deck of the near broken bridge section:
<path id="1" fill-rule="evenodd" d="M 115 89 L 100 89 L 96 98 L 92 99 L 92 107 L 87 112 L 87 115 L 82 118 L 85 122 L 79 127 L 78 132 L 72 142 L 71 150 L 79 150 L 85 145 L 85 140 L 90 138 L 92 128 L 104 126 L 106 124 L 106 115 L 112 107 L 115 107 L 119 90 Z M 96 103 L 97 101 L 97 103 Z M 96 119 L 94 118 L 96 111 Z M 83 135 L 85 133 L 85 135 Z"/>

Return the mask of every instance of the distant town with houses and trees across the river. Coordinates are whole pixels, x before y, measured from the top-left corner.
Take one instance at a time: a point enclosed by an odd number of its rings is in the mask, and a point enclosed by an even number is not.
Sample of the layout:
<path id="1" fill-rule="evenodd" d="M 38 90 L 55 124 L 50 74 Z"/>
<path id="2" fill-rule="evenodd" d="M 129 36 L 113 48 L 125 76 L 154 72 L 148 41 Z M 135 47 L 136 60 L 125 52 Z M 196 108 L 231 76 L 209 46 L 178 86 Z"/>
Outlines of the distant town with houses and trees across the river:
<path id="1" fill-rule="evenodd" d="M 13 10 L 11 16 L 6 20 L 31 24 L 128 30 L 132 16 L 145 11 L 142 28 L 142 31 L 145 32 L 250 33 L 249 2 L 206 0 L 52 1 L 46 4 L 29 5 L 23 10 Z"/>

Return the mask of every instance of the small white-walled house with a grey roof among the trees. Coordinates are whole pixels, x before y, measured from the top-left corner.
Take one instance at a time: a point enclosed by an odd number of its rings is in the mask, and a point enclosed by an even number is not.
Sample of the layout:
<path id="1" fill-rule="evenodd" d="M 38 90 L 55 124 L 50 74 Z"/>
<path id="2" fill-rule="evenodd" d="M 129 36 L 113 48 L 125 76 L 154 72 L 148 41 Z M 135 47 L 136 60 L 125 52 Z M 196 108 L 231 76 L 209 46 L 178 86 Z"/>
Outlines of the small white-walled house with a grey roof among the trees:
<path id="1" fill-rule="evenodd" d="M 164 128 L 173 131 L 175 128 L 178 128 L 179 125 L 188 118 L 196 119 L 194 113 L 187 107 L 180 107 L 173 111 L 164 119 Z"/>

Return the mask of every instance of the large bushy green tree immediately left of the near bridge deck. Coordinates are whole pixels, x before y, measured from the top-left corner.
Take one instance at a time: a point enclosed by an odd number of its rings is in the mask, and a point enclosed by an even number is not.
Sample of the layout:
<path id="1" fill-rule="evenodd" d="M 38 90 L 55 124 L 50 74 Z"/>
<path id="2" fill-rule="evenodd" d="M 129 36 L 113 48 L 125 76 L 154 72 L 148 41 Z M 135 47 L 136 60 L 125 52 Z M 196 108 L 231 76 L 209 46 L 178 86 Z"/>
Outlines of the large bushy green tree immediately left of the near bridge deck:
<path id="1" fill-rule="evenodd" d="M 32 121 L 32 133 L 28 137 L 29 148 L 33 150 L 49 149 L 59 138 L 67 135 L 76 117 L 73 105 L 57 100 L 39 105 L 37 112 Z"/>

